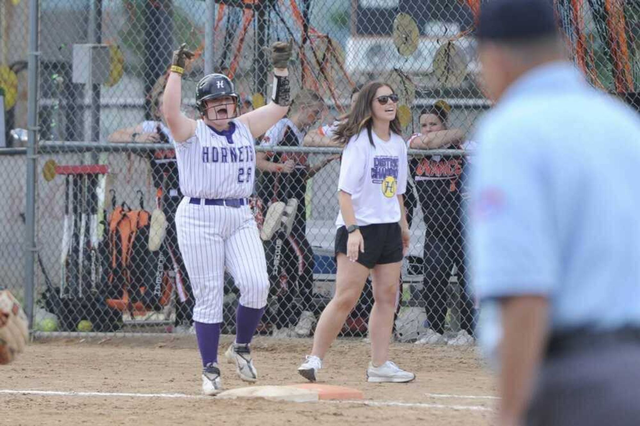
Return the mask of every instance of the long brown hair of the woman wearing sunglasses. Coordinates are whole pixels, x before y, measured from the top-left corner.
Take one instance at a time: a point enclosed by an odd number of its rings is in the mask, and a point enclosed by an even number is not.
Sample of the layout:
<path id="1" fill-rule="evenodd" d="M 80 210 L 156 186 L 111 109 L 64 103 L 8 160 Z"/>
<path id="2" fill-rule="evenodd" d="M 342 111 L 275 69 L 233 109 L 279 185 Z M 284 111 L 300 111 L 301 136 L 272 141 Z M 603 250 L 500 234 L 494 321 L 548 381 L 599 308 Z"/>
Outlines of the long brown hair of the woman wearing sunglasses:
<path id="1" fill-rule="evenodd" d="M 371 83 L 365 84 L 362 90 L 360 90 L 358 100 L 356 100 L 356 104 L 347 115 L 346 120 L 343 120 L 335 130 L 335 136 L 333 137 L 335 141 L 341 145 L 347 145 L 352 136 L 360 133 L 362 129 L 366 127 L 369 132 L 369 143 L 374 145 L 371 135 L 371 126 L 373 123 L 371 104 L 374 99 L 376 99 L 376 91 L 381 87 L 388 87 L 393 93 L 396 93 L 394 88 L 381 81 L 372 81 Z M 400 120 L 398 119 L 397 113 L 396 118 L 389 123 L 389 129 L 396 134 L 402 134 Z"/>

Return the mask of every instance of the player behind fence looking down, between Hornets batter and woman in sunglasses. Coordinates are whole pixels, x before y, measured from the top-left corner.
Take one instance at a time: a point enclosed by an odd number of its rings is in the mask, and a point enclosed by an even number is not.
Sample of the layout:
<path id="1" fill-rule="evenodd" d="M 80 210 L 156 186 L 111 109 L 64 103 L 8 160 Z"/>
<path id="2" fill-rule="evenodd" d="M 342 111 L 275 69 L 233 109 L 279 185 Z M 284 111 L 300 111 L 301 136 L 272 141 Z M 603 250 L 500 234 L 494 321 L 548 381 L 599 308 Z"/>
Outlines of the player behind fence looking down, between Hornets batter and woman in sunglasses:
<path id="1" fill-rule="evenodd" d="M 283 118 L 267 130 L 260 145 L 300 146 L 307 129 L 316 123 L 324 108 L 324 101 L 316 92 L 301 90 L 292 102 L 289 117 Z M 268 160 L 268 157 L 271 157 L 271 161 Z M 284 256 L 283 259 L 287 261 L 283 260 L 280 265 L 284 265 L 288 280 L 286 283 L 280 282 L 281 280 L 271 283 L 274 286 L 282 286 L 278 289 L 274 336 L 308 336 L 316 323 L 313 312 L 314 253 L 307 240 L 305 193 L 307 192 L 307 180 L 314 177 L 321 168 L 335 158 L 335 156 L 330 156 L 315 166 L 309 166 L 307 154 L 257 153 L 257 168 L 267 172 L 260 187 L 260 198 L 263 202 L 265 204 L 274 201 L 287 203 L 289 200 L 295 200 L 293 204 L 297 204 L 291 232 L 282 248 L 285 253 L 287 250 L 295 253 L 296 260 Z M 265 228 L 274 225 L 277 224 L 267 218 L 263 225 L 264 233 L 272 235 L 271 230 Z M 267 251 L 269 252 L 269 250 Z M 302 303 L 300 307 L 293 303 L 291 285 L 294 281 L 297 281 L 298 284 L 298 296 L 300 296 Z M 296 326 L 292 329 L 294 324 Z"/>

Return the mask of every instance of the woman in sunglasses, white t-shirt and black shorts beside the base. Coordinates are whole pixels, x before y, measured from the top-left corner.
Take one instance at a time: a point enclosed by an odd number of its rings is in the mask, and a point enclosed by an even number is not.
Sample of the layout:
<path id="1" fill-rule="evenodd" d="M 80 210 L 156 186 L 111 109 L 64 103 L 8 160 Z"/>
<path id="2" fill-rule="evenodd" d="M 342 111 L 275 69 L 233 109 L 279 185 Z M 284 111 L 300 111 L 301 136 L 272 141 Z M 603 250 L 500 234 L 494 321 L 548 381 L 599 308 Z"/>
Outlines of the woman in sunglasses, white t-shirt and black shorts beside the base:
<path id="1" fill-rule="evenodd" d="M 372 274 L 374 305 L 369 319 L 369 382 L 403 383 L 415 375 L 388 360 L 396 295 L 409 229 L 404 215 L 407 155 L 397 118 L 398 97 L 385 83 L 364 86 L 335 139 L 346 145 L 340 164 L 336 225 L 335 295 L 324 308 L 311 355 L 298 368 L 316 381 L 322 358 Z"/>

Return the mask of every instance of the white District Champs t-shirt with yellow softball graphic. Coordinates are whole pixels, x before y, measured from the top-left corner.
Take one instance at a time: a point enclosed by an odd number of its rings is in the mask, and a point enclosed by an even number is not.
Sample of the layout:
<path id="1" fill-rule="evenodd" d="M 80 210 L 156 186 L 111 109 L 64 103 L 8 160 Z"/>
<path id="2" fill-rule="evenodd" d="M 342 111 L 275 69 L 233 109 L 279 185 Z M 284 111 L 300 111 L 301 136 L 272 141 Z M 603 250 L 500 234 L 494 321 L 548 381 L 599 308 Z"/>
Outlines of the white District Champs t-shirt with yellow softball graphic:
<path id="1" fill-rule="evenodd" d="M 400 205 L 396 195 L 406 191 L 407 155 L 402 136 L 391 134 L 383 141 L 367 129 L 349 139 L 342 152 L 338 189 L 351 194 L 358 226 L 374 223 L 394 223 L 400 220 Z M 345 225 L 342 214 L 335 224 Z"/>

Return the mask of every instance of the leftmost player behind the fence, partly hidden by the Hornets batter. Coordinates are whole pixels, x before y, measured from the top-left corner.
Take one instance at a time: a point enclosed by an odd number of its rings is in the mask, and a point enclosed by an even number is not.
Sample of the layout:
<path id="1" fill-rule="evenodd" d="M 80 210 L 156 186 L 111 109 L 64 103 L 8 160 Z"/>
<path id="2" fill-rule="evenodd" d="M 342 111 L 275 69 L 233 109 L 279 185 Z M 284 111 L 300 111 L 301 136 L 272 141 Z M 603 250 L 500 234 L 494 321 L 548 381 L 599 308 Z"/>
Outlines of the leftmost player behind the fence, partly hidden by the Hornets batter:
<path id="1" fill-rule="evenodd" d="M 164 77 L 161 77 L 152 89 L 151 115 L 154 120 L 145 120 L 134 127 L 116 130 L 109 135 L 107 141 L 113 143 L 166 143 L 173 146 L 173 136 L 166 127 L 161 113 L 164 80 Z M 193 326 L 193 294 L 189 276 L 182 261 L 182 255 L 180 255 L 175 231 L 175 210 L 182 200 L 175 151 L 172 148 L 152 150 L 148 151 L 147 157 L 153 185 L 156 188 L 156 205 L 166 217 L 166 235 L 161 249 L 164 251 L 164 259 L 166 262 L 171 262 L 173 270 L 176 272 L 178 297 L 176 297 L 175 331 L 186 332 L 190 331 Z M 168 264 L 165 267 L 168 267 Z"/>

